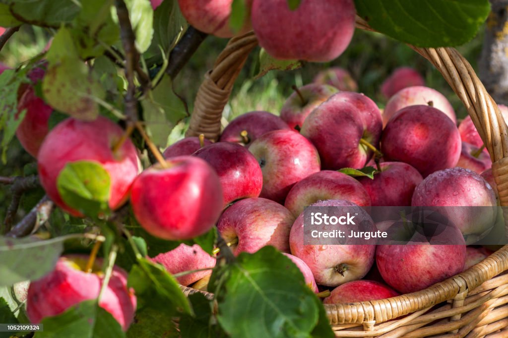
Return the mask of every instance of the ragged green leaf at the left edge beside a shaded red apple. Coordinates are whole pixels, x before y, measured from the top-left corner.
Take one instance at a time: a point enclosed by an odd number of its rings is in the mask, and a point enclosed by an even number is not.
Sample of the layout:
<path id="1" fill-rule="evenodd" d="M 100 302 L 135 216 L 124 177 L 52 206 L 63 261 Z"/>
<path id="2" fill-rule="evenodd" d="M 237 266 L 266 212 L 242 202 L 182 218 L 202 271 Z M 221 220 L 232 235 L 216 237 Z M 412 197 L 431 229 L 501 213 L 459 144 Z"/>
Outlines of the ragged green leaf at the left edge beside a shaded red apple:
<path id="1" fill-rule="evenodd" d="M 26 110 L 18 113 L 18 88 L 25 82 L 26 69 L 20 72 L 5 70 L 0 75 L 0 134 L 2 138 L 2 161 L 7 160 L 7 148 L 23 120 Z"/>

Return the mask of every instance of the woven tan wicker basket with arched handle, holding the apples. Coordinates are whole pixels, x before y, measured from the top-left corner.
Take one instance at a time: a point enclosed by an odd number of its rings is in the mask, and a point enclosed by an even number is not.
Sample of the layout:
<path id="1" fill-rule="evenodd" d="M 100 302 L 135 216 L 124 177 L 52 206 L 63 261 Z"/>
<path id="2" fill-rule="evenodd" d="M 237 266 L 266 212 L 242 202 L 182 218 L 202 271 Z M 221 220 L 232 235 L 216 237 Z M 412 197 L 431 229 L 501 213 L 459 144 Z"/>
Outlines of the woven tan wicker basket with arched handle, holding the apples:
<path id="1" fill-rule="evenodd" d="M 359 17 L 356 26 L 372 30 Z M 257 45 L 252 32 L 231 39 L 199 89 L 187 136 L 203 133 L 217 140 L 233 84 Z M 462 100 L 493 159 L 501 206 L 508 206 L 508 128 L 494 100 L 455 49 L 412 48 L 441 72 Z M 508 208 L 503 214 L 508 220 Z M 508 337 L 508 274 L 501 274 L 506 269 L 508 245 L 427 289 L 381 300 L 327 304 L 325 309 L 339 337 Z M 186 295 L 198 292 L 183 286 L 182 290 Z"/>

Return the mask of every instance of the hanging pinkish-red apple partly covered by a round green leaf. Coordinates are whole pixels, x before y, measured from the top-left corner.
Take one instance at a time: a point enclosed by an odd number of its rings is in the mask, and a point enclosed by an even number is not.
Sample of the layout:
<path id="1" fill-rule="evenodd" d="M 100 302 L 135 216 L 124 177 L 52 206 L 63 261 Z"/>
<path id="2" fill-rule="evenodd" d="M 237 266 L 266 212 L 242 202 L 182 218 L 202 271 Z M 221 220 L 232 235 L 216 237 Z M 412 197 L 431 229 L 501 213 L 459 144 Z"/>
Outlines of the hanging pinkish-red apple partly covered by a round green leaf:
<path id="1" fill-rule="evenodd" d="M 111 209 L 117 209 L 129 198 L 131 184 L 138 175 L 138 156 L 129 139 L 113 151 L 123 133 L 122 128 L 102 116 L 94 121 L 69 118 L 48 133 L 37 157 L 38 171 L 42 187 L 57 206 L 72 215 L 81 214 L 63 202 L 56 188 L 63 167 L 81 160 L 98 162 L 108 172 Z"/>

